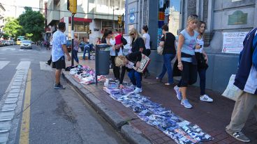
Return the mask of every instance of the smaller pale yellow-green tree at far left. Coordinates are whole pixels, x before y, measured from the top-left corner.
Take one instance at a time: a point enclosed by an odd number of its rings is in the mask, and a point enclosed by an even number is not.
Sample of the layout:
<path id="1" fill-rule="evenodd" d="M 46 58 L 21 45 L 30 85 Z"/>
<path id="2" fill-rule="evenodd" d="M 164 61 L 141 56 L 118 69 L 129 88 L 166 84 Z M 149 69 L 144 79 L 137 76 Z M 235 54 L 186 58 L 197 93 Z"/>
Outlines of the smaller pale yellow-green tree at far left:
<path id="1" fill-rule="evenodd" d="M 16 37 L 17 34 L 19 34 L 22 30 L 22 26 L 20 26 L 17 19 L 14 19 L 13 17 L 7 17 L 6 18 L 6 25 L 3 27 L 4 33 L 6 35 L 9 35 L 11 37 Z"/>

